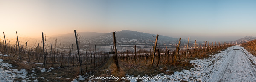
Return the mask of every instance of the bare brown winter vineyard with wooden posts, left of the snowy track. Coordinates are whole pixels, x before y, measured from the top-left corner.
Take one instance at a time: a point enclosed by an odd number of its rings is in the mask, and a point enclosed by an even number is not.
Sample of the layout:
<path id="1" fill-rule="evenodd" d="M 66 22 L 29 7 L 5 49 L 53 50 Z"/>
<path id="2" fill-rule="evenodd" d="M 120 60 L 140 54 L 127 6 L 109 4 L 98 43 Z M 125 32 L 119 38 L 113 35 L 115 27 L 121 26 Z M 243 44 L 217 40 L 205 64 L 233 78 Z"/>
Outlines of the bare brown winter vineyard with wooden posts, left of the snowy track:
<path id="1" fill-rule="evenodd" d="M 208 58 L 209 54 L 216 54 L 233 46 L 226 42 L 209 41 L 205 41 L 205 44 L 201 45 L 197 44 L 196 40 L 195 44 L 189 45 L 191 43 L 188 38 L 185 43 L 187 45 L 181 48 L 180 38 L 175 49 L 170 49 L 168 46 L 163 49 L 158 47 L 158 35 L 156 35 L 152 37 L 155 41 L 149 51 L 143 49 L 143 46 L 134 45 L 133 50 L 127 49 L 118 52 L 116 34 L 113 32 L 113 50 L 105 52 L 97 49 L 97 45 L 92 42 L 89 42 L 90 45 L 87 48 L 81 48 L 80 42 L 88 40 L 83 39 L 84 37 L 77 34 L 76 30 L 74 33 L 76 42 L 58 41 L 57 38 L 48 37 L 44 33 L 42 33 L 41 40 L 23 38 L 26 36 L 17 32 L 16 41 L 4 35 L 0 41 L 0 59 L 3 59 L 3 63 L 9 63 L 12 66 L 1 66 L 1 68 L 3 70 L 25 69 L 27 74 L 24 75 L 25 77 L 11 77 L 10 79 L 0 79 L 0 81 L 109 81 L 88 79 L 88 77 L 90 75 L 95 75 L 95 77 L 133 75 L 137 77 L 139 75 L 154 76 L 160 73 L 170 75 L 175 71 L 192 68 L 191 60 Z M 20 38 L 22 40 L 19 40 Z M 54 39 L 55 42 L 50 42 L 46 38 Z M 249 48 L 253 48 L 255 41 L 244 45 L 250 45 Z"/>

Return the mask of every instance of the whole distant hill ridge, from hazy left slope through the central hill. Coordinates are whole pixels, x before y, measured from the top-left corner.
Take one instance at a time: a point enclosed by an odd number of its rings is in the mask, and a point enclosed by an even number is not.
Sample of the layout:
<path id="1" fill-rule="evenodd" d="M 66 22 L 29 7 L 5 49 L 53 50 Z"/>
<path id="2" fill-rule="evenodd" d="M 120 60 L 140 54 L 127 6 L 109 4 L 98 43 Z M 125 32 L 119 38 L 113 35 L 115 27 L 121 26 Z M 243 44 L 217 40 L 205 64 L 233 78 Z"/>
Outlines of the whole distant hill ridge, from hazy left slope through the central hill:
<path id="1" fill-rule="evenodd" d="M 110 33 L 96 33 L 96 32 L 78 32 L 78 35 L 81 40 L 89 40 L 83 41 L 85 44 L 89 42 L 93 44 L 113 44 L 113 32 Z M 154 44 L 154 37 L 156 38 L 156 34 L 143 33 L 137 31 L 130 30 L 122 30 L 116 32 L 116 41 L 118 44 Z M 59 34 L 50 37 L 58 38 L 59 40 L 75 40 L 74 33 L 67 34 Z M 73 39 L 71 39 L 73 38 Z M 158 44 L 160 45 L 169 45 L 176 44 L 178 38 L 172 38 L 168 36 L 159 35 Z"/>

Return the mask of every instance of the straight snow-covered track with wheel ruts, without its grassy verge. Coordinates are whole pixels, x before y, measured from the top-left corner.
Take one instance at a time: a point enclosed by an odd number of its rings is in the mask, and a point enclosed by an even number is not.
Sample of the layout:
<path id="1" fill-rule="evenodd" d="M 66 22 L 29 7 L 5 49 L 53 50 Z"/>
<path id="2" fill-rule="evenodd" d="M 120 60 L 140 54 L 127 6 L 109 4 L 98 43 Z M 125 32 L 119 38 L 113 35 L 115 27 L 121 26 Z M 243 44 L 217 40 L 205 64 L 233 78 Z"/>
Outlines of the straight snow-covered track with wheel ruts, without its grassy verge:
<path id="1" fill-rule="evenodd" d="M 234 46 L 211 82 L 256 81 L 253 60 L 240 46 Z M 255 65 L 255 64 L 254 64 Z M 249 79 L 250 78 L 250 79 Z"/>

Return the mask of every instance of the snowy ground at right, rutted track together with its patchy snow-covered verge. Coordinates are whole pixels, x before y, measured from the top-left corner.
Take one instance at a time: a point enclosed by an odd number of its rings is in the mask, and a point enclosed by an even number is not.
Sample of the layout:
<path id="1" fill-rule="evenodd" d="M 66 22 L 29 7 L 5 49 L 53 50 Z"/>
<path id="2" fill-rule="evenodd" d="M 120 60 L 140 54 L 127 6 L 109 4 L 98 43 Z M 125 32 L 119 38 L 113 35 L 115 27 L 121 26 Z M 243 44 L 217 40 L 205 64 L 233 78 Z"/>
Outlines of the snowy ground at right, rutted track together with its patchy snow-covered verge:
<path id="1" fill-rule="evenodd" d="M 191 60 L 194 68 L 175 72 L 163 82 L 256 82 L 256 57 L 243 47 L 232 46 L 207 59 Z M 131 80 L 133 82 L 133 80 Z M 145 81 L 145 80 L 144 80 Z M 156 80 L 148 80 L 152 82 Z"/>

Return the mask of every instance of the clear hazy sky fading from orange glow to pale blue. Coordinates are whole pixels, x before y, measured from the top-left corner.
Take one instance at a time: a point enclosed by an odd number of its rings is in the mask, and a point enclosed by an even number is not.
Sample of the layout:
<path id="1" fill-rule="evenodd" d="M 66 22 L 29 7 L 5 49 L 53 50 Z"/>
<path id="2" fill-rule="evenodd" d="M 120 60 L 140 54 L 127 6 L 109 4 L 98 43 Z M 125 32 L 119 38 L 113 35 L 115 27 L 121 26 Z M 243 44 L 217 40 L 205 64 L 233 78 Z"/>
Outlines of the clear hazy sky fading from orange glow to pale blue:
<path id="1" fill-rule="evenodd" d="M 6 36 L 75 29 L 233 41 L 256 36 L 256 0 L 0 0 L 0 30 Z"/>

